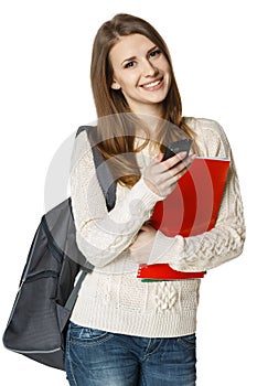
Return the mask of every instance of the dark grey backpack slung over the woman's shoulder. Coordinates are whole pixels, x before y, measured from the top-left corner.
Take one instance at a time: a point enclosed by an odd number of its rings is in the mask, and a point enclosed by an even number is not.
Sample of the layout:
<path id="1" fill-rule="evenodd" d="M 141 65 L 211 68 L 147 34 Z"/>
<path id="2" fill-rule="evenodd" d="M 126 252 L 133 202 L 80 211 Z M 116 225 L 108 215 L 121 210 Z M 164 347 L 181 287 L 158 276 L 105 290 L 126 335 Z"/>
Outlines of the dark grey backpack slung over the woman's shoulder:
<path id="1" fill-rule="evenodd" d="M 93 129 L 83 126 L 76 136 L 87 130 L 90 138 Z M 110 211 L 116 201 L 116 184 L 95 147 L 93 154 Z M 42 364 L 64 369 L 69 315 L 82 281 L 93 269 L 77 248 L 68 197 L 41 218 L 3 334 L 4 346 Z"/>

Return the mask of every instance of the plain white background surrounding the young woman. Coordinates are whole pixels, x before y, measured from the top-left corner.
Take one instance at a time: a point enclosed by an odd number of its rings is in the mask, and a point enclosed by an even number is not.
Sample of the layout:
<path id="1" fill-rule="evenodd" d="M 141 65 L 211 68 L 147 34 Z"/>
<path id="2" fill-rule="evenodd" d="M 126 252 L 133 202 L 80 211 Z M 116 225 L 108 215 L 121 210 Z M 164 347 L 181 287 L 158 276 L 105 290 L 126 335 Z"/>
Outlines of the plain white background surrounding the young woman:
<path id="1" fill-rule="evenodd" d="M 250 0 L 1 1 L 0 333 L 44 212 L 49 165 L 77 127 L 95 119 L 89 84 L 93 39 L 99 25 L 119 12 L 142 17 L 159 30 L 171 50 L 183 114 L 219 121 L 234 150 L 247 240 L 239 258 L 203 280 L 197 386 L 254 385 L 257 31 Z M 3 346 L 0 355 L 6 385 L 66 384 L 63 372 Z"/>

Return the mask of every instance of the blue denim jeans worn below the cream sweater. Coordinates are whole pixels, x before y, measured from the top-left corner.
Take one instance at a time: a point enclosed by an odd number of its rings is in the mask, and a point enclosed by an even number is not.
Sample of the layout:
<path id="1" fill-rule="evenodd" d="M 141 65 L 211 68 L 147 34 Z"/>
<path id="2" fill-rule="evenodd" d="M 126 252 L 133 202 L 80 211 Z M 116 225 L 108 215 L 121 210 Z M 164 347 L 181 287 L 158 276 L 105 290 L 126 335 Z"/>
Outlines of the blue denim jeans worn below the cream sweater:
<path id="1" fill-rule="evenodd" d="M 149 339 L 69 323 L 65 368 L 72 386 L 195 386 L 195 334 Z"/>

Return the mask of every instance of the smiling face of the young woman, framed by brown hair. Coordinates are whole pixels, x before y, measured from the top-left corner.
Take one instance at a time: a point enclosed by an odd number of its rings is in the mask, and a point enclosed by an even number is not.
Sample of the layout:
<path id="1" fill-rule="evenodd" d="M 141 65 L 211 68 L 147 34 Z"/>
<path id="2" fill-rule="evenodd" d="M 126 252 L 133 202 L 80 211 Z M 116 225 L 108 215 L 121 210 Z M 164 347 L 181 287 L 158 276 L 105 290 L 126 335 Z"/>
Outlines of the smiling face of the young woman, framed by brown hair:
<path id="1" fill-rule="evenodd" d="M 136 114 L 160 116 L 171 85 L 171 68 L 163 53 L 141 34 L 119 37 L 109 53 L 113 89 L 121 89 Z"/>

